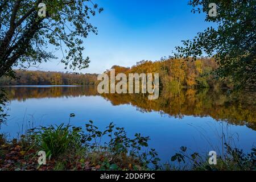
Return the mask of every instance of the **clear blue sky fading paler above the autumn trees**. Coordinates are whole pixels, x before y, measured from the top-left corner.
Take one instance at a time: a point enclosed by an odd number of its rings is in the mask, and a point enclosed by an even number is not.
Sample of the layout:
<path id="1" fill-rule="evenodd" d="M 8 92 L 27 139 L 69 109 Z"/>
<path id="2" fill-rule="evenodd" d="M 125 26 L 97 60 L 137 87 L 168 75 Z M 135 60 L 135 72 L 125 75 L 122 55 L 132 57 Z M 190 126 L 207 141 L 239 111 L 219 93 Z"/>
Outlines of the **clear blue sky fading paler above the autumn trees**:
<path id="1" fill-rule="evenodd" d="M 85 40 L 90 57 L 83 73 L 102 73 L 112 65 L 131 67 L 141 60 L 171 55 L 181 40 L 191 39 L 212 24 L 205 14 L 192 14 L 188 0 L 93 0 L 104 8 L 90 23 L 98 35 Z M 60 56 L 61 57 L 61 56 Z M 43 71 L 66 71 L 59 60 L 40 65 Z M 34 68 L 35 69 L 35 68 Z M 77 71 L 80 72 L 80 71 Z"/>

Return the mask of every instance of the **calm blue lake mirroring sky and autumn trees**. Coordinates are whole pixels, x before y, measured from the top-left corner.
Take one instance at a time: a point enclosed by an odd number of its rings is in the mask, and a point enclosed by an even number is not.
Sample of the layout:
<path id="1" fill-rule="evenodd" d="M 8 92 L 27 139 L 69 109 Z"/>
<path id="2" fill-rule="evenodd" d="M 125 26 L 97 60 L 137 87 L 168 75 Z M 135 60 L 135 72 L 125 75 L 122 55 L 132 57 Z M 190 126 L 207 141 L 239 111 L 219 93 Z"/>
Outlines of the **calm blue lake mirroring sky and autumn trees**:
<path id="1" fill-rule="evenodd" d="M 143 94 L 98 94 L 94 86 L 11 86 L 6 125 L 0 133 L 17 137 L 36 126 L 69 122 L 81 126 L 92 120 L 100 129 L 110 122 L 125 127 L 129 137 L 150 137 L 149 146 L 162 162 L 181 146 L 207 155 L 221 155 L 224 142 L 245 152 L 256 142 L 255 92 L 227 90 L 161 90 L 158 100 Z"/>

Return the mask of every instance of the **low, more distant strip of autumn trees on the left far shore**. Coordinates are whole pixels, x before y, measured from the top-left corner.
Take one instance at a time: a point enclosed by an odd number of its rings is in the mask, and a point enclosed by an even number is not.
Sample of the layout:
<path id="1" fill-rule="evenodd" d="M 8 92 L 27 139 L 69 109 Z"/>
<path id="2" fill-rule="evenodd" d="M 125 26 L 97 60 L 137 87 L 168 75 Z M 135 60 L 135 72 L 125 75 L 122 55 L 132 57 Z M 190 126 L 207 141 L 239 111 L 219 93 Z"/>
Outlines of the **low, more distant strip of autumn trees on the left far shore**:
<path id="1" fill-rule="evenodd" d="M 1 77 L 0 85 L 95 85 L 97 74 L 16 70 L 16 79 Z"/>

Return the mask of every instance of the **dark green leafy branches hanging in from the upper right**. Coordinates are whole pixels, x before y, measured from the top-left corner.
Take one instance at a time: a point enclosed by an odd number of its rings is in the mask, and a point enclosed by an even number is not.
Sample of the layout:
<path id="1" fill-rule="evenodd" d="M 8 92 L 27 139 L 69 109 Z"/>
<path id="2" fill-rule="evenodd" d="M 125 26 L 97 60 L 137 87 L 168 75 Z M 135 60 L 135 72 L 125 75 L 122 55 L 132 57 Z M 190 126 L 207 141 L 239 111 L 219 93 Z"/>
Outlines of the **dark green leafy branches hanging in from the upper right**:
<path id="1" fill-rule="evenodd" d="M 210 3 L 216 3 L 217 16 L 209 16 Z M 192 12 L 206 14 L 207 22 L 217 23 L 191 40 L 176 47 L 175 57 L 196 59 L 213 56 L 218 63 L 218 76 L 231 77 L 237 88 L 256 86 L 256 1 L 191 0 Z"/>

